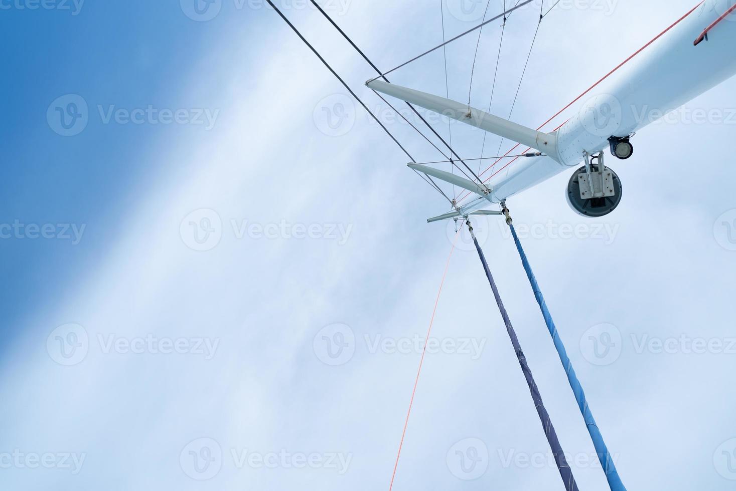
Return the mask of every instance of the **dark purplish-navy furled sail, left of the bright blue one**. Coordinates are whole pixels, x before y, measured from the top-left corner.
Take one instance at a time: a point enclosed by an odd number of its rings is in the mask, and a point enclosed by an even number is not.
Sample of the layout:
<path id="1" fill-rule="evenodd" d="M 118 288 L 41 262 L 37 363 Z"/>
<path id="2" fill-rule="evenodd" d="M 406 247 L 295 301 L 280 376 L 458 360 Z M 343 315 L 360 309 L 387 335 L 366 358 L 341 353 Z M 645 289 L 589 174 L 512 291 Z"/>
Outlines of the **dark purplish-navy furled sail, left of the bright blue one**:
<path id="1" fill-rule="evenodd" d="M 506 331 L 508 331 L 512 345 L 514 345 L 514 351 L 516 352 L 516 356 L 519 359 L 519 365 L 521 365 L 521 370 L 523 371 L 524 377 L 526 378 L 526 383 L 529 386 L 531 398 L 534 399 L 534 406 L 537 406 L 537 414 L 539 415 L 539 420 L 542 421 L 542 427 L 545 429 L 545 436 L 547 437 L 547 441 L 549 442 L 550 448 L 552 449 L 552 454 L 554 456 L 557 469 L 559 470 L 559 474 L 560 476 L 562 476 L 562 482 L 565 484 L 565 490 L 578 491 L 578 484 L 576 484 L 575 478 L 573 477 L 573 470 L 570 469 L 570 465 L 567 464 L 567 459 L 565 459 L 565 452 L 562 451 L 562 446 L 559 444 L 557 433 L 556 431 L 554 431 L 554 426 L 552 425 L 552 421 L 550 420 L 550 415 L 548 414 L 547 409 L 545 409 L 544 402 L 542 402 L 542 395 L 539 394 L 537 382 L 534 381 L 534 377 L 531 375 L 531 369 L 526 362 L 526 356 L 524 356 L 524 352 L 521 349 L 519 339 L 516 336 L 516 331 L 514 331 L 514 327 L 512 326 L 511 320 L 509 319 L 509 314 L 508 312 L 506 312 L 506 307 L 503 307 L 503 301 L 501 301 L 500 293 L 498 293 L 498 287 L 496 287 L 496 283 L 493 279 L 493 275 L 491 274 L 491 270 L 489 270 L 488 268 L 486 257 L 483 254 L 481 246 L 478 244 L 478 239 L 476 239 L 475 234 L 473 234 L 473 229 L 470 229 L 470 234 L 473 235 L 475 248 L 478 249 L 478 256 L 481 257 L 481 262 L 483 263 L 483 268 L 486 271 L 488 282 L 491 284 L 491 289 L 493 290 L 493 296 L 496 299 L 496 304 L 498 304 L 498 309 L 500 310 L 501 317 L 503 317 L 503 323 L 506 324 Z"/>

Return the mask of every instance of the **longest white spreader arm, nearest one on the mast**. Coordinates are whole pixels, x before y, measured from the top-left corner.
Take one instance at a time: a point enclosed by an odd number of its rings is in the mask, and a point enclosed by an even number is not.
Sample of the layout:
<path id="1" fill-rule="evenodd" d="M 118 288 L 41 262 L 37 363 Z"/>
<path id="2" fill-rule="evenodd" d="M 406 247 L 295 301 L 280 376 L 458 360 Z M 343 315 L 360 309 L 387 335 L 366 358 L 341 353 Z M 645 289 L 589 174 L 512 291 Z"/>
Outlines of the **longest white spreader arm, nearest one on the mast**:
<path id="1" fill-rule="evenodd" d="M 402 101 L 416 104 L 425 109 L 438 112 L 448 118 L 456 119 L 462 123 L 470 124 L 476 128 L 484 129 L 486 132 L 507 138 L 516 143 L 521 143 L 529 148 L 541 151 L 556 160 L 557 156 L 557 135 L 556 133 L 544 133 L 537 130 L 512 123 L 498 116 L 494 116 L 485 111 L 470 107 L 468 111 L 467 104 L 461 104 L 457 101 L 434 96 L 429 93 L 420 92 L 419 90 L 401 87 L 400 85 L 389 84 L 381 80 L 373 80 L 367 82 L 366 86 L 372 90 L 384 93 L 389 96 L 400 98 Z"/>

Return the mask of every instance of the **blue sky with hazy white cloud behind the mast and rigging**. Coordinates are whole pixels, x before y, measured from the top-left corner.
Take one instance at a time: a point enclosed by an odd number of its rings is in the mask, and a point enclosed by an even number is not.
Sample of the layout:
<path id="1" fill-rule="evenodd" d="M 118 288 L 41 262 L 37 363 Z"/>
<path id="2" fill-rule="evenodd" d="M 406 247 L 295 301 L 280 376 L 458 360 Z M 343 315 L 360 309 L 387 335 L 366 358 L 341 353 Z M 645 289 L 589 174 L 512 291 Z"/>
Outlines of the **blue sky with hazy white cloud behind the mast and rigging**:
<path id="1" fill-rule="evenodd" d="M 692 3 L 582 2 L 554 12 L 512 119 L 536 127 Z M 439 5 L 326 4 L 381 67 L 442 39 Z M 4 5 L 0 224 L 52 228 L 51 238 L 24 228 L 0 240 L 3 482 L 387 489 L 416 339 L 454 235 L 451 224 L 425 223 L 445 211 L 442 198 L 261 2 L 223 0 L 208 21 L 174 0 Z M 437 160 L 364 89 L 373 74 L 350 46 L 313 9 L 283 5 L 417 160 Z M 477 20 L 456 7 L 445 4 L 448 35 Z M 493 107 L 500 115 L 517 88 L 535 8 L 509 21 Z M 481 107 L 499 31 L 484 31 L 479 50 L 472 98 Z M 453 98 L 467 98 L 474 48 L 467 39 L 447 49 Z M 393 81 L 442 94 L 442 57 Z M 611 164 L 624 184 L 614 214 L 574 215 L 567 174 L 509 203 L 631 489 L 728 490 L 736 479 L 728 390 L 736 170 L 723 151 L 736 129 L 735 83 L 637 135 L 634 157 Z M 68 104 L 79 109 L 79 98 L 86 126 L 60 135 L 47 113 L 74 112 Z M 707 121 L 693 122 L 693 112 Z M 478 156 L 481 132 L 451 126 L 460 153 Z M 436 128 L 447 135 L 446 121 Z M 489 139 L 486 152 L 498 144 Z M 514 245 L 503 223 L 476 229 L 562 445 L 578 458 L 578 484 L 604 490 Z M 325 337 L 346 340 L 342 359 L 325 351 Z M 449 344 L 425 360 L 394 489 L 561 489 L 465 236 L 434 337 Z M 79 349 L 59 351 L 70 340 Z M 488 459 L 466 481 L 452 456 L 469 445 Z M 213 464 L 202 470 L 190 452 L 204 459 L 205 448 Z M 34 455 L 52 468 L 29 468 Z M 301 456 L 314 465 L 298 465 Z M 526 457 L 541 463 L 525 465 Z"/>

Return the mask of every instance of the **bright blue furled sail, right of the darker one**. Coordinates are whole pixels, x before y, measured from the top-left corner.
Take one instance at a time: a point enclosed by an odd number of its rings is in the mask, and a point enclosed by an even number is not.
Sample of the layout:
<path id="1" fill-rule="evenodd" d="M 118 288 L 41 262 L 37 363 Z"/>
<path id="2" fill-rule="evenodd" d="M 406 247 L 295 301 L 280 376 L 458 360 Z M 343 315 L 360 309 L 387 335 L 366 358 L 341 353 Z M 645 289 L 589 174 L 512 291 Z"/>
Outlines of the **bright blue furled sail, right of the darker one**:
<path id="1" fill-rule="evenodd" d="M 580 412 L 585 419 L 585 425 L 587 426 L 590 437 L 593 440 L 593 445 L 595 446 L 595 451 L 598 454 L 598 459 L 601 461 L 601 465 L 603 466 L 604 472 L 606 473 L 606 479 L 608 479 L 609 487 L 611 488 L 611 491 L 626 491 L 626 487 L 623 486 L 623 482 L 621 482 L 621 479 L 618 476 L 618 471 L 616 470 L 616 466 L 613 462 L 613 459 L 611 458 L 611 454 L 609 454 L 608 447 L 606 447 L 606 443 L 603 440 L 601 431 L 598 429 L 598 425 L 595 423 L 595 419 L 593 419 L 592 412 L 590 411 L 590 406 L 588 406 L 588 401 L 585 398 L 583 387 L 581 386 L 580 381 L 578 381 L 575 370 L 573 370 L 573 363 L 570 362 L 570 357 L 567 356 L 565 345 L 562 344 L 562 339 L 560 339 L 559 337 L 559 332 L 557 331 L 554 320 L 552 320 L 552 315 L 547 308 L 545 298 L 544 296 L 542 296 L 542 290 L 539 289 L 537 278 L 536 276 L 534 276 L 534 272 L 531 270 L 531 265 L 529 264 L 529 260 L 526 257 L 526 253 L 521 247 L 521 242 L 519 240 L 519 236 L 516 233 L 516 229 L 514 229 L 513 224 L 511 224 L 510 226 L 511 233 L 514 235 L 516 248 L 519 251 L 519 255 L 521 257 L 521 262 L 524 265 L 524 270 L 526 270 L 526 276 L 529 279 L 529 283 L 531 283 L 531 290 L 534 290 L 534 296 L 537 298 L 537 304 L 539 304 L 539 308 L 542 309 L 542 315 L 545 318 L 545 323 L 547 323 L 547 329 L 549 329 L 550 334 L 552 335 L 552 340 L 554 341 L 555 348 L 557 348 L 559 359 L 562 362 L 562 366 L 565 367 L 567 380 L 570 381 L 570 387 L 572 387 L 573 393 L 575 393 L 575 398 L 578 401 Z"/>

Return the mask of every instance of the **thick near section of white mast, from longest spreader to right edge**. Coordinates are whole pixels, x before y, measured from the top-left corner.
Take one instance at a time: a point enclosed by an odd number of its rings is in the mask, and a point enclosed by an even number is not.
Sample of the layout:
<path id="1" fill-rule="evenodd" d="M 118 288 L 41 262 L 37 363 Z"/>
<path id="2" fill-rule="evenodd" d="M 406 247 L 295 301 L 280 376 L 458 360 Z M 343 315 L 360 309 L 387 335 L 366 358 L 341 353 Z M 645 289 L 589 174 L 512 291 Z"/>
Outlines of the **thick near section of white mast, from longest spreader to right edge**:
<path id="1" fill-rule="evenodd" d="M 559 161 L 581 162 L 583 151 L 608 146 L 676 110 L 736 74 L 736 15 L 722 21 L 710 40 L 693 42 L 732 0 L 706 0 L 590 93 L 584 106 L 559 129 Z"/>

